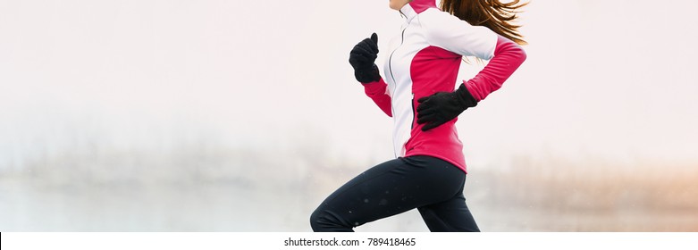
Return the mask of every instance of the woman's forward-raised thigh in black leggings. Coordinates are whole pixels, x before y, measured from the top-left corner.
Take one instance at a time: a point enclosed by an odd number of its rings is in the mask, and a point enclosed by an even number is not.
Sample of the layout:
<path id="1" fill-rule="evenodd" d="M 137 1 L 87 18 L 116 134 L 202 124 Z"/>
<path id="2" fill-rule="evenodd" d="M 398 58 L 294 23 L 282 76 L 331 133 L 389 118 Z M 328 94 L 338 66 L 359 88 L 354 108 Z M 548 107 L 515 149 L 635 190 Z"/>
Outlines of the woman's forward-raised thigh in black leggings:
<path id="1" fill-rule="evenodd" d="M 322 227 L 350 229 L 446 201 L 462 193 L 464 180 L 463 171 L 440 159 L 399 158 L 378 164 L 349 180 L 320 204 L 313 217 L 324 219 L 319 222 Z"/>

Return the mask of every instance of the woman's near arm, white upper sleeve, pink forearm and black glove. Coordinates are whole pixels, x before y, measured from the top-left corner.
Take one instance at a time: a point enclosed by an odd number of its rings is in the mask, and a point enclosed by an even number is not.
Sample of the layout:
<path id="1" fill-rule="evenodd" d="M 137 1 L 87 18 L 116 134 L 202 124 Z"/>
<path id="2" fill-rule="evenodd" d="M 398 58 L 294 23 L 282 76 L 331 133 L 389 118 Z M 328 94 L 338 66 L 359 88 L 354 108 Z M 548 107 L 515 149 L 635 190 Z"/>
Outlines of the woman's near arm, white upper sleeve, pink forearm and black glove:
<path id="1" fill-rule="evenodd" d="M 438 10 L 420 15 L 427 30 L 427 40 L 464 56 L 490 60 L 475 78 L 463 81 L 454 92 L 439 92 L 417 102 L 417 123 L 426 123 L 422 130 L 436 128 L 458 117 L 458 114 L 499 89 L 505 80 L 526 60 L 526 52 L 516 43 L 482 26 L 472 26 L 455 16 Z"/>

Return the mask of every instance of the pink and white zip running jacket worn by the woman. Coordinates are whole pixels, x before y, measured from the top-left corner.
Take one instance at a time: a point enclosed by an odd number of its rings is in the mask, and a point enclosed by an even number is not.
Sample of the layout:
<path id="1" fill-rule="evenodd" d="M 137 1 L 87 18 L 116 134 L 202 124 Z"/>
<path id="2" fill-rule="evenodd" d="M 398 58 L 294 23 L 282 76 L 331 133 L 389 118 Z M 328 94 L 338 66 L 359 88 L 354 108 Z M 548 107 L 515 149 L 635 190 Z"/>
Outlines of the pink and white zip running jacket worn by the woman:
<path id="1" fill-rule="evenodd" d="M 479 102 L 501 87 L 526 60 L 526 53 L 491 29 L 472 26 L 442 12 L 435 2 L 413 0 L 402 7 L 405 24 L 387 55 L 385 79 L 364 87 L 366 95 L 393 117 L 396 157 L 429 155 L 467 171 L 463 144 L 455 126 L 458 118 L 422 131 L 424 124 L 417 124 L 415 119 L 416 100 L 436 92 L 454 91 L 462 57 L 476 56 L 490 62 L 463 84 Z"/>

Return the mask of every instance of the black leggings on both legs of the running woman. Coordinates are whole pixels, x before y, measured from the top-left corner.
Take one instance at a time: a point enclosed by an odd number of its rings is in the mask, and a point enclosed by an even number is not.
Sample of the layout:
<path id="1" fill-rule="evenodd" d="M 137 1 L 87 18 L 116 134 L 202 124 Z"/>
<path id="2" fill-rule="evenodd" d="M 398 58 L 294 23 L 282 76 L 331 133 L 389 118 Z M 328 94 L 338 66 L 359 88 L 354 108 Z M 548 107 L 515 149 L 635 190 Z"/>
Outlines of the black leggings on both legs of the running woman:
<path id="1" fill-rule="evenodd" d="M 349 180 L 310 216 L 314 231 L 354 231 L 413 208 L 431 231 L 479 231 L 467 209 L 466 173 L 431 156 L 383 162 Z"/>

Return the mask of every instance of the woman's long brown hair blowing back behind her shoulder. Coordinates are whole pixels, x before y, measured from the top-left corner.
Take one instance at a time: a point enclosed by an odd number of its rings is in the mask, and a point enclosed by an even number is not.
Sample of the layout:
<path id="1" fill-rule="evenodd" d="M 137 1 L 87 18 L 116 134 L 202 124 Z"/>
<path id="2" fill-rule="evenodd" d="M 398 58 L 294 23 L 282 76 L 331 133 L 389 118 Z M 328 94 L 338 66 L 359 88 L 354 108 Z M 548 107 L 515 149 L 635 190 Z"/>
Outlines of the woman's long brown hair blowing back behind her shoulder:
<path id="1" fill-rule="evenodd" d="M 519 2 L 513 0 L 502 4 L 500 0 L 442 0 L 441 7 L 444 12 L 450 12 L 471 25 L 490 28 L 502 37 L 526 45 L 524 37 L 517 30 L 521 26 L 512 24 L 518 18 L 517 9 L 528 4 Z"/>

